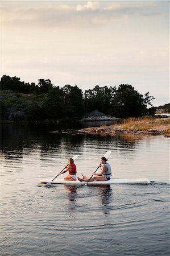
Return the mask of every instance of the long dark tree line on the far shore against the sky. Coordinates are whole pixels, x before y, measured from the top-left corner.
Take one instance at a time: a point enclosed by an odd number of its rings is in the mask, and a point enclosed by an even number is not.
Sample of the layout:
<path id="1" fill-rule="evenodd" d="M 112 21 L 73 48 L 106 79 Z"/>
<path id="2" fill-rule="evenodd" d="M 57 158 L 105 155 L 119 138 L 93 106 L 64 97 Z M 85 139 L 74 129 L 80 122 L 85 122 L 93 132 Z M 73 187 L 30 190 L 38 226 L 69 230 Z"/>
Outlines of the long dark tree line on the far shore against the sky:
<path id="1" fill-rule="evenodd" d="M 9 97 L 5 97 L 5 94 L 9 94 Z M 96 85 L 83 93 L 77 85 L 67 84 L 60 88 L 49 79 L 39 79 L 38 84 L 30 84 L 20 81 L 19 77 L 3 75 L 1 78 L 3 119 L 12 108 L 20 109 L 20 119 L 28 121 L 77 120 L 93 110 L 119 118 L 141 117 L 155 113 L 154 107 L 148 108 L 152 106 L 152 100 L 154 97 L 149 92 L 142 95 L 128 84 L 121 84 L 118 88 Z"/>

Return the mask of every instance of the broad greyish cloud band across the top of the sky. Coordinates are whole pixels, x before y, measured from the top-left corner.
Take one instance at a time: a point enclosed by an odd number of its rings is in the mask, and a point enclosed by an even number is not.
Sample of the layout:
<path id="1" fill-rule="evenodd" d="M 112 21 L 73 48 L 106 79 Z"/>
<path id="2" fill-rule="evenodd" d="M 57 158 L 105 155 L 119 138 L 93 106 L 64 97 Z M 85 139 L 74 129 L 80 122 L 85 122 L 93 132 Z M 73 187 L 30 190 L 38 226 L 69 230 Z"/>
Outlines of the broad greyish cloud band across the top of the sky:
<path id="1" fill-rule="evenodd" d="M 85 5 L 58 5 L 57 2 L 30 3 L 31 7 L 8 7 L 2 4 L 2 24 L 5 26 L 89 27 L 106 25 L 115 19 L 131 15 L 157 15 L 165 12 L 165 3 L 112 2 L 102 7 L 99 2 Z M 17 6 L 17 3 L 16 3 Z M 34 7 L 35 6 L 35 7 Z"/>

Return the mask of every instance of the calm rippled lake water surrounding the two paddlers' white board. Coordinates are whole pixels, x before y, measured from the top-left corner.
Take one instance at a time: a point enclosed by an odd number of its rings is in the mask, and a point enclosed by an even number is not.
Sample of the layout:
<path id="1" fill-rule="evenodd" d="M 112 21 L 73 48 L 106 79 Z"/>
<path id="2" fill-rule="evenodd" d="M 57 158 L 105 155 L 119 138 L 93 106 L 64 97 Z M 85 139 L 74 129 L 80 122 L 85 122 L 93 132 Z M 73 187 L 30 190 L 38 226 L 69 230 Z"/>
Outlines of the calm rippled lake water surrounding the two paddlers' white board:
<path id="1" fill-rule="evenodd" d="M 1 127 L 1 255 L 169 255 L 169 138 L 51 133 L 59 126 Z M 37 186 L 77 154 L 78 175 L 91 175 L 109 150 L 114 177 L 155 182 Z"/>

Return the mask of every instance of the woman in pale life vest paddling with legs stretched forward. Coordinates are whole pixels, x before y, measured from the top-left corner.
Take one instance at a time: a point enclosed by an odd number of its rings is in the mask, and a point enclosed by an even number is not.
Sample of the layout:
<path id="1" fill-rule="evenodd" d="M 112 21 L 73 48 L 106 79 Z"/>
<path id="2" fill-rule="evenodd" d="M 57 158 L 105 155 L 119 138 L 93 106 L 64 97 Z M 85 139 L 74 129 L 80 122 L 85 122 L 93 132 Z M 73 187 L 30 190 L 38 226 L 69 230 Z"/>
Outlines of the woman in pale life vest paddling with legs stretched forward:
<path id="1" fill-rule="evenodd" d="M 110 180 L 111 175 L 111 167 L 110 164 L 107 163 L 107 159 L 105 158 L 105 156 L 102 156 L 102 158 L 100 159 L 101 164 L 98 166 L 101 167 L 101 172 L 99 174 L 93 173 L 93 177 L 92 179 L 90 179 L 90 177 L 86 177 L 84 175 L 82 175 L 82 179 L 80 179 L 80 177 L 77 177 L 78 180 L 80 181 L 106 181 L 106 180 Z"/>

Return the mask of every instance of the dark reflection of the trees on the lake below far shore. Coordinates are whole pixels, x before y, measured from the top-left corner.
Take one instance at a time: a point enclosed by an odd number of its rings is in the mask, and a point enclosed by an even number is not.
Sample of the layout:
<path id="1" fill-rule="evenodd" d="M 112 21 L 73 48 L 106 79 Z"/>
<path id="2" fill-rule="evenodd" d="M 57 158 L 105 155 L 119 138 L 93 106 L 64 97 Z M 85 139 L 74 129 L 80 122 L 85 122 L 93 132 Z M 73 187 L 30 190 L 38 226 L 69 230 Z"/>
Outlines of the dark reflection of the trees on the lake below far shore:
<path id="1" fill-rule="evenodd" d="M 86 123 L 88 126 L 88 123 Z M 95 125 L 95 124 L 93 124 Z M 115 148 L 122 150 L 134 148 L 141 136 L 132 135 L 88 135 L 88 134 L 61 134 L 51 133 L 56 129 L 56 124 L 49 125 L 1 125 L 1 152 L 6 158 L 22 157 L 30 154 L 34 150 L 39 150 L 42 154 L 48 151 L 53 154 L 54 151 L 72 151 L 77 147 L 82 151 L 82 146 L 103 144 L 107 146 L 108 141 L 112 141 Z M 76 128 L 76 127 L 75 127 Z M 77 126 L 78 129 L 78 126 Z M 120 147 L 121 145 L 121 147 Z"/>

